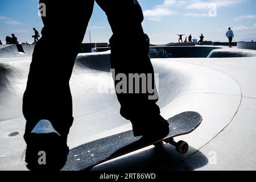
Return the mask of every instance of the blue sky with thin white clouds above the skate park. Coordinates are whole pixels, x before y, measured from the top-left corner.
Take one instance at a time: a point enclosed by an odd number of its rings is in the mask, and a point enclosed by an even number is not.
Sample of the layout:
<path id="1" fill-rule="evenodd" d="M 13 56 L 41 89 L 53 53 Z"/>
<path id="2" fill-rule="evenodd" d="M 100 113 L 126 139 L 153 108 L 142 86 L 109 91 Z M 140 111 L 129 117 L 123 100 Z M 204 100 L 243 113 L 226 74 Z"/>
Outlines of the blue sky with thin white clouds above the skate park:
<path id="1" fill-rule="evenodd" d="M 82 1 L 82 0 L 81 0 Z M 84 0 L 86 1 L 86 0 Z M 123 0 L 122 0 L 123 1 Z M 255 0 L 138 0 L 142 6 L 143 28 L 151 43 L 177 42 L 176 34 L 192 34 L 205 40 L 227 42 L 232 27 L 234 41 L 256 41 Z M 14 33 L 19 42 L 32 42 L 32 28 L 41 30 L 38 0 L 0 0 L 0 40 Z M 106 15 L 96 4 L 84 42 L 108 42 L 112 32 Z"/>

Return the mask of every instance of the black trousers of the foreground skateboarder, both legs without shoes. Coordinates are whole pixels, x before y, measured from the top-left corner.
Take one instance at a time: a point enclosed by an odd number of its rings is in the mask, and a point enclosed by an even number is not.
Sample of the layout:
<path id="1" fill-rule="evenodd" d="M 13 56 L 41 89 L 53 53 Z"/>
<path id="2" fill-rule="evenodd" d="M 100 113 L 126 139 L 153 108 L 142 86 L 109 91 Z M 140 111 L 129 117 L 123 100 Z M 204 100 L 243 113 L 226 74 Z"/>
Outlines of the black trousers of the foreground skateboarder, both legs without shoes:
<path id="1" fill-rule="evenodd" d="M 110 38 L 111 67 L 118 73 L 154 74 L 148 57 L 149 40 L 141 22 L 142 9 L 136 0 L 97 0 L 108 16 L 113 36 Z M 27 120 L 26 135 L 40 119 L 48 119 L 60 134 L 68 134 L 72 126 L 72 96 L 69 89 L 73 65 L 84 39 L 92 15 L 94 0 L 73 0 L 57 3 L 41 0 L 46 4 L 42 38 L 35 45 L 23 96 L 23 114 Z M 60 38 L 57 44 L 55 37 Z M 68 40 L 68 44 L 66 43 Z M 133 52 L 123 44 L 136 45 Z M 153 79 L 154 81 L 154 79 Z M 117 84 L 118 81 L 115 81 Z M 146 129 L 156 122 L 160 110 L 156 101 L 149 100 L 150 93 L 119 94 L 121 115 L 133 126 Z M 142 127 L 143 126 L 143 127 Z"/>

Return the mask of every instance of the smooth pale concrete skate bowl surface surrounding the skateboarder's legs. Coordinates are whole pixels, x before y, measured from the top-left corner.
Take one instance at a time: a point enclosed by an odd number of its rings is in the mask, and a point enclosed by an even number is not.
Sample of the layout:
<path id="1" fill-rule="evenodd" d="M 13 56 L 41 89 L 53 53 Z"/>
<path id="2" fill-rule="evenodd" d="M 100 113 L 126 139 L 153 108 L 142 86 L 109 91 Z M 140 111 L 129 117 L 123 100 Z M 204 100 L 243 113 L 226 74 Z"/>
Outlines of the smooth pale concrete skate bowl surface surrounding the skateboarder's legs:
<path id="1" fill-rule="evenodd" d="M 109 57 L 110 51 L 77 56 L 70 80 L 75 118 L 68 138 L 70 148 L 131 129 L 129 121 L 119 115 Z M 256 76 L 255 57 L 151 61 L 163 117 L 190 110 L 203 116 L 199 128 L 177 138 L 189 143 L 188 153 L 177 154 L 174 147 L 165 144 L 163 148 L 148 147 L 94 169 L 256 169 L 256 148 L 251 145 L 256 138 L 256 81 L 252 79 Z M 22 94 L 30 63 L 31 56 L 0 57 L 1 170 L 26 170 L 22 160 L 26 147 Z"/>

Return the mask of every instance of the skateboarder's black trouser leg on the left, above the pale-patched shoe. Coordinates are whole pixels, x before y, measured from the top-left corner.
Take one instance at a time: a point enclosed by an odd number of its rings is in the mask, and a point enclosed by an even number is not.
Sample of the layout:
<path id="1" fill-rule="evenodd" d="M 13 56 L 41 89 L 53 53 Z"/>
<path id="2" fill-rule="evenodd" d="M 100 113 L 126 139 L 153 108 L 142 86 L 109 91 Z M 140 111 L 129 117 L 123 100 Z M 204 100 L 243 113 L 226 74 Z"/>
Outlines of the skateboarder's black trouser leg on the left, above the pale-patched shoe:
<path id="1" fill-rule="evenodd" d="M 35 45 L 23 97 L 25 140 L 40 119 L 48 119 L 60 134 L 68 134 L 73 122 L 69 78 L 94 3 L 93 0 L 40 2 L 46 4 L 46 16 L 42 18 L 43 35 Z M 56 36 L 60 38 L 58 42 Z"/>

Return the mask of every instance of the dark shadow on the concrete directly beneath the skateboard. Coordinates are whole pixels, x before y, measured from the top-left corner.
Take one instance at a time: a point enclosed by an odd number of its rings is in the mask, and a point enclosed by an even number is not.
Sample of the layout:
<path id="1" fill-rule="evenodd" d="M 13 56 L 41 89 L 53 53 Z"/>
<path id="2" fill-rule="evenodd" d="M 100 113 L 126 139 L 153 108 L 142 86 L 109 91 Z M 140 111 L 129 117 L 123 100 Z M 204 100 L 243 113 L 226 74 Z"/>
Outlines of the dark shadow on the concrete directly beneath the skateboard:
<path id="1" fill-rule="evenodd" d="M 186 158 L 196 152 L 193 162 Z M 179 154 L 175 147 L 164 144 L 125 158 L 113 160 L 93 167 L 93 171 L 184 171 L 195 170 L 208 164 L 208 158 L 196 148 L 189 146 L 187 154 Z"/>

